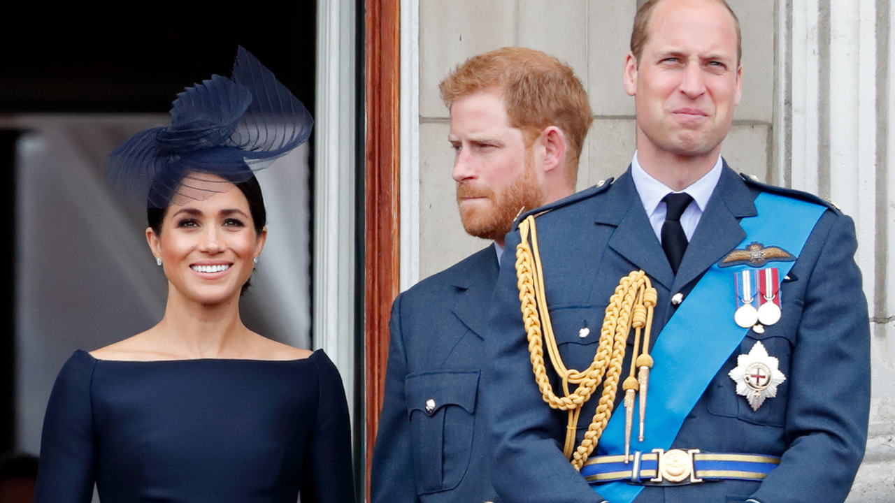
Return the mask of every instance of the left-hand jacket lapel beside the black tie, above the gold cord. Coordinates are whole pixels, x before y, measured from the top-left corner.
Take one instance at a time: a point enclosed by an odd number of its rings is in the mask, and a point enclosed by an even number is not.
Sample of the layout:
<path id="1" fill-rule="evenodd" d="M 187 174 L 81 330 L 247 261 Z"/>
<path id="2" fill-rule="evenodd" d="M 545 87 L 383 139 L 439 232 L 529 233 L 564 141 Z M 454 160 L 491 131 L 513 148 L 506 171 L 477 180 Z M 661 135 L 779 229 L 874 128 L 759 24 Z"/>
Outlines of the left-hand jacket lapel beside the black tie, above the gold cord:
<path id="1" fill-rule="evenodd" d="M 596 222 L 598 225 L 616 226 L 609 238 L 609 247 L 626 260 L 670 288 L 674 281 L 669 261 L 662 252 L 659 239 L 652 232 L 644 205 L 637 194 L 631 170 L 618 177 L 612 189 L 602 198 Z M 686 260 L 686 257 L 684 258 Z"/>

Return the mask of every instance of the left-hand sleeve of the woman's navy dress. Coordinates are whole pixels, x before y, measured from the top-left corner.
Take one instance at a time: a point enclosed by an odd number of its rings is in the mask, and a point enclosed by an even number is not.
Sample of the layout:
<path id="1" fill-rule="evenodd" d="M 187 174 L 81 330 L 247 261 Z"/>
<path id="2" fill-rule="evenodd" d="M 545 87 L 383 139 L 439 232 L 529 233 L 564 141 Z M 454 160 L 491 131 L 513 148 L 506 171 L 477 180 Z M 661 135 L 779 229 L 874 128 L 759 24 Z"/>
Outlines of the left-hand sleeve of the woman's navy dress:
<path id="1" fill-rule="evenodd" d="M 79 351 L 59 371 L 40 441 L 37 503 L 89 503 L 96 479 L 90 402 L 95 360 Z"/>

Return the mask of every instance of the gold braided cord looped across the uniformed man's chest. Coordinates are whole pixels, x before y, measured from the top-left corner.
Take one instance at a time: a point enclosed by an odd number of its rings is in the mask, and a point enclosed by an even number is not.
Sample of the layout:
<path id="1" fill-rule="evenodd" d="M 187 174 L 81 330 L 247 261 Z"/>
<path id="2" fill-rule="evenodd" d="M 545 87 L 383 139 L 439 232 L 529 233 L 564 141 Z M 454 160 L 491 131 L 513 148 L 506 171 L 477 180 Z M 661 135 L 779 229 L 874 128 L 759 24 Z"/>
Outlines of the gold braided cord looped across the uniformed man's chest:
<path id="1" fill-rule="evenodd" d="M 649 323 L 652 322 L 652 306 L 655 305 L 655 290 L 644 271 L 635 271 L 621 278 L 615 293 L 609 299 L 593 361 L 584 371 L 567 369 L 559 355 L 557 339 L 550 322 L 550 311 L 544 289 L 541 253 L 538 250 L 537 231 L 534 217 L 529 216 L 519 225 L 521 240 L 516 247 L 516 285 L 519 288 L 519 302 L 528 337 L 528 350 L 532 362 L 535 382 L 541 390 L 544 402 L 550 407 L 568 412 L 566 442 L 564 454 L 571 459 L 576 470 L 581 470 L 584 461 L 596 448 L 602 431 L 606 428 L 615 404 L 618 379 L 621 374 L 622 361 L 625 358 L 625 345 L 628 332 L 635 327 L 639 341 L 641 329 L 645 329 L 644 353 L 649 342 Z M 531 244 L 529 244 L 531 238 Z M 651 302 L 652 301 L 652 302 Z M 561 379 L 563 393 L 558 396 L 550 385 L 544 365 L 543 346 L 547 346 L 550 362 Z M 634 357 L 637 354 L 635 347 Z M 632 362 L 633 364 L 634 362 Z M 584 440 L 575 448 L 575 430 L 578 416 L 584 403 L 600 386 L 603 378 L 603 389 L 596 413 L 584 434 Z M 632 376 L 633 377 L 633 376 Z M 634 379 L 636 385 L 636 379 Z M 570 385 L 577 385 L 569 392 Z"/>

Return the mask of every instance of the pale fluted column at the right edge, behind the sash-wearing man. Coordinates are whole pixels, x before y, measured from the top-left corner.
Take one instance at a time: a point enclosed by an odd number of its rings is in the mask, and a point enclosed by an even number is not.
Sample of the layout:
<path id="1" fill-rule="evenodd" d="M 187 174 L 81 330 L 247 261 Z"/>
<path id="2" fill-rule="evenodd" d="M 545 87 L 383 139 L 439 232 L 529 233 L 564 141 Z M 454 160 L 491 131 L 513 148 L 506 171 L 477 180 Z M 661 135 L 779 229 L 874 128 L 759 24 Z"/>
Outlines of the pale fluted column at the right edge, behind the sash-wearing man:
<path id="1" fill-rule="evenodd" d="M 878 13 L 885 5 L 888 13 Z M 791 6 L 791 18 L 787 7 Z M 854 218 L 856 260 L 864 274 L 872 331 L 870 431 L 864 463 L 848 503 L 895 500 L 895 288 L 889 251 L 895 250 L 895 40 L 877 43 L 878 14 L 895 10 L 877 0 L 780 0 L 778 108 L 774 138 L 780 183 L 833 200 Z M 881 25 L 883 26 L 883 25 Z M 878 75 L 888 62 L 888 73 Z M 791 81 L 788 88 L 786 78 Z M 886 92 L 878 92 L 885 86 Z M 880 97 L 888 96 L 885 102 Z M 787 109 L 789 104 L 789 109 Z M 786 128 L 786 116 L 791 124 Z M 888 131 L 880 137 L 879 131 Z M 786 172 L 787 145 L 791 168 Z M 879 166 L 880 163 L 888 166 Z M 888 173 L 888 175 L 886 175 Z M 788 177 L 787 177 L 788 175 Z M 887 183 L 881 185 L 882 178 Z M 824 193 L 826 192 L 826 193 Z M 885 205 L 879 209 L 878 205 Z M 882 285 L 880 285 L 882 282 Z"/>

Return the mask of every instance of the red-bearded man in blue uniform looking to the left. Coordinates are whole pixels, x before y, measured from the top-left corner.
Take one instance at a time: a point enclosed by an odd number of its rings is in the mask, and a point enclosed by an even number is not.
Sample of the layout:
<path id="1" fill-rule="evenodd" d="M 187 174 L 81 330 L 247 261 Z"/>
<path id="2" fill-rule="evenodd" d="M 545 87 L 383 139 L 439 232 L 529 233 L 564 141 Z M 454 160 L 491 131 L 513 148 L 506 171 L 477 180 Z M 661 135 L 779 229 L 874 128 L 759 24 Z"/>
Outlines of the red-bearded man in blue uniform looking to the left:
<path id="1" fill-rule="evenodd" d="M 555 57 L 521 47 L 474 56 L 440 85 L 465 231 L 481 252 L 400 294 L 372 461 L 375 503 L 498 500 L 480 377 L 504 235 L 524 208 L 570 195 L 592 123 Z"/>

